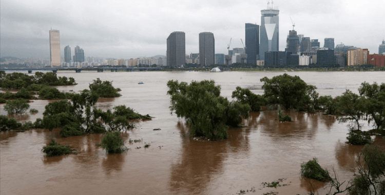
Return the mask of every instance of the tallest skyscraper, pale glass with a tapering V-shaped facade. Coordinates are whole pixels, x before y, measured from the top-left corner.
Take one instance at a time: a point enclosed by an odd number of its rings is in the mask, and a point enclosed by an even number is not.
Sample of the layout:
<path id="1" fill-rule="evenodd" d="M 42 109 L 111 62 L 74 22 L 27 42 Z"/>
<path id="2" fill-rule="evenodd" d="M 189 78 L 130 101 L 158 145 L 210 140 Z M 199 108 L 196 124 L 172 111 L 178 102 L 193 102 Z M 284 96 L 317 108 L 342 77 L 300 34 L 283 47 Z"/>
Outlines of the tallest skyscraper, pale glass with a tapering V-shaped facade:
<path id="1" fill-rule="evenodd" d="M 267 9 L 261 10 L 261 15 L 259 53 L 264 60 L 266 51 L 279 49 L 279 10 L 267 6 Z"/>

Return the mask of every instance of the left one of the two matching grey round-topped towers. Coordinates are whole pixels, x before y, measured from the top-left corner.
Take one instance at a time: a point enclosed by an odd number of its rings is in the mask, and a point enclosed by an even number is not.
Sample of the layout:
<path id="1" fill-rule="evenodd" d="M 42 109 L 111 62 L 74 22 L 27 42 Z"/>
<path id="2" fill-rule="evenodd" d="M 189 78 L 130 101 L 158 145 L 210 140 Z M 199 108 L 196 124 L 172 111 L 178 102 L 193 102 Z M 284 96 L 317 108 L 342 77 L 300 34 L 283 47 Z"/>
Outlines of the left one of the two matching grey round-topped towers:
<path id="1" fill-rule="evenodd" d="M 186 63 L 186 41 L 184 32 L 172 32 L 167 37 L 167 66 L 181 66 Z"/>

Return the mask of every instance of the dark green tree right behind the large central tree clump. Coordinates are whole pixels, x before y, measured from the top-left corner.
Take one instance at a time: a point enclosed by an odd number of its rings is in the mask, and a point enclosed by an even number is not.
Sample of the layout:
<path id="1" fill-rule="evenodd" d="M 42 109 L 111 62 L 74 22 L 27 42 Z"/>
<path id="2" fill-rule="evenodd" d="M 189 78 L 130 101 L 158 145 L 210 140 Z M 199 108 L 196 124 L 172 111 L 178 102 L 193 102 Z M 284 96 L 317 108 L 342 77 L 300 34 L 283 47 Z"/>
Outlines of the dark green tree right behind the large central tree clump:
<path id="1" fill-rule="evenodd" d="M 242 104 L 248 104 L 253 112 L 259 112 L 261 106 L 266 105 L 266 99 L 262 95 L 256 95 L 249 89 L 242 89 L 241 87 L 237 87 L 233 91 L 232 98 L 237 98 Z"/>

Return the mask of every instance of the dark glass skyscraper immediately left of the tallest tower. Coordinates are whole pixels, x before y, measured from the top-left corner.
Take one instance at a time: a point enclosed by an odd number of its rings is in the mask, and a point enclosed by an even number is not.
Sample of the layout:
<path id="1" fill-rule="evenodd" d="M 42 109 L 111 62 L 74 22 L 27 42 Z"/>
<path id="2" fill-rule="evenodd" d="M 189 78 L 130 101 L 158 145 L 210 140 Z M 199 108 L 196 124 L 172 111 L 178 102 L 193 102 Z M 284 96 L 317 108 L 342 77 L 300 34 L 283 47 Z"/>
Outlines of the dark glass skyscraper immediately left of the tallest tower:
<path id="1" fill-rule="evenodd" d="M 255 64 L 259 59 L 259 25 L 245 24 L 245 47 L 247 63 Z"/>

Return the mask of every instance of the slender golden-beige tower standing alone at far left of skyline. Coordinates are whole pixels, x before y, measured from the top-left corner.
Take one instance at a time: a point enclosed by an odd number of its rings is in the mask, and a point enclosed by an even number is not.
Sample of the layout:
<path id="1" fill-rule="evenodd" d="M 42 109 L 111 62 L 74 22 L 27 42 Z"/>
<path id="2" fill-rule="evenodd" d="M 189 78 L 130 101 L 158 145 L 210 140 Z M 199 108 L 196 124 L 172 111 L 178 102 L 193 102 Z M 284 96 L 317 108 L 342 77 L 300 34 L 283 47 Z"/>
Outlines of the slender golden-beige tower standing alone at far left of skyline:
<path id="1" fill-rule="evenodd" d="M 51 58 L 51 67 L 60 67 L 60 31 L 49 30 L 49 54 Z"/>

